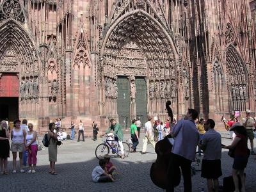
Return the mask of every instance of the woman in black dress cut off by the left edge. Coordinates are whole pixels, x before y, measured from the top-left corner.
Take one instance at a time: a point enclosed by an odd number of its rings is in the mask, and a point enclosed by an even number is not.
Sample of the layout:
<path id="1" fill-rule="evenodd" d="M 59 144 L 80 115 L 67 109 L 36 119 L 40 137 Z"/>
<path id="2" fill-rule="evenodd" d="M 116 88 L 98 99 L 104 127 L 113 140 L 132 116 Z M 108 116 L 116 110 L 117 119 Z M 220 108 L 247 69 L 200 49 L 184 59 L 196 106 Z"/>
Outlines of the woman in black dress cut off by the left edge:
<path id="1" fill-rule="evenodd" d="M 0 166 L 1 175 L 7 175 L 7 158 L 10 157 L 10 132 L 6 121 L 2 121 L 0 124 Z"/>

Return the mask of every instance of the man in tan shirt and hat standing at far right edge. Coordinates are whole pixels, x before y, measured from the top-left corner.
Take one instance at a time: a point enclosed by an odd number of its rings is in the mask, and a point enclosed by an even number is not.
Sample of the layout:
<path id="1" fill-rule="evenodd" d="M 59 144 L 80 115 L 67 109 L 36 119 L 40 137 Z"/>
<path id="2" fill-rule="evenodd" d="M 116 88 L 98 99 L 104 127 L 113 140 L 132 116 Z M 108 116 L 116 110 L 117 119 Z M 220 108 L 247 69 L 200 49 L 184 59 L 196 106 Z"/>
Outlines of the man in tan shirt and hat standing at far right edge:
<path id="1" fill-rule="evenodd" d="M 243 118 L 243 125 L 246 129 L 247 132 L 247 139 L 250 140 L 251 144 L 251 155 L 256 155 L 254 150 L 253 150 L 253 139 L 254 139 L 254 134 L 253 134 L 253 129 L 254 129 L 254 119 L 251 116 L 251 111 L 250 109 L 246 109 L 246 118 Z"/>

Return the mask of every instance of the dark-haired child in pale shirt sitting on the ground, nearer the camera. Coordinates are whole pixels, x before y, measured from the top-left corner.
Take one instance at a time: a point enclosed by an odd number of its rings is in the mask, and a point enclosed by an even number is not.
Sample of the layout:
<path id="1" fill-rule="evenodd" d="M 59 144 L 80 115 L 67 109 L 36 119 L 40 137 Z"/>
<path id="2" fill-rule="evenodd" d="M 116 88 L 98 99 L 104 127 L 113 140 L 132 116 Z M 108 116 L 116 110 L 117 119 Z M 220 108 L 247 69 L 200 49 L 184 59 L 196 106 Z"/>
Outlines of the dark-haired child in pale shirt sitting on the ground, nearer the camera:
<path id="1" fill-rule="evenodd" d="M 111 174 L 106 173 L 106 160 L 100 159 L 99 166 L 96 166 L 92 171 L 93 182 L 113 182 L 115 181 Z"/>

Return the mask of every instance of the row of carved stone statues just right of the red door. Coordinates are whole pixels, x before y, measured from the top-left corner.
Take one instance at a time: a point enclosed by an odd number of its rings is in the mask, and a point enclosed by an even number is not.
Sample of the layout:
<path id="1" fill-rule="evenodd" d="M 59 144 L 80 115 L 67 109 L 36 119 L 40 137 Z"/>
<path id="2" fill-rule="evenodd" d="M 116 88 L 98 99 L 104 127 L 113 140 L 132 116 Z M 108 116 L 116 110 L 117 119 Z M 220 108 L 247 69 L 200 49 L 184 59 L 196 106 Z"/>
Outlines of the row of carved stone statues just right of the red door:
<path id="1" fill-rule="evenodd" d="M 35 99 L 38 97 L 38 78 L 24 77 L 20 81 L 20 99 Z"/>

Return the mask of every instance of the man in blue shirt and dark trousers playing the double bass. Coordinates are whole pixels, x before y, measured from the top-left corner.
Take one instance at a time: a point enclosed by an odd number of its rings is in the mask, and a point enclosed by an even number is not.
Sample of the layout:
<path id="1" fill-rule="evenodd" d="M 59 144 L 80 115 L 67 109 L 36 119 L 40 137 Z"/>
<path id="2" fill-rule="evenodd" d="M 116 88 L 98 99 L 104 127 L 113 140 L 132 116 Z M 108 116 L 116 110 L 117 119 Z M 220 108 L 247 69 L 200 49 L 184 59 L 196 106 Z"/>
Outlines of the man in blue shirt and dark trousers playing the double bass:
<path id="1" fill-rule="evenodd" d="M 196 147 L 199 141 L 199 132 L 195 124 L 197 116 L 198 112 L 195 109 L 188 109 L 184 120 L 180 120 L 172 129 L 171 135 L 175 138 L 175 141 L 168 165 L 167 177 L 170 182 L 166 191 L 174 191 L 173 180 L 177 176 L 173 170 L 177 170 L 179 167 L 182 170 L 184 191 L 192 191 L 191 163 L 195 159 Z"/>

